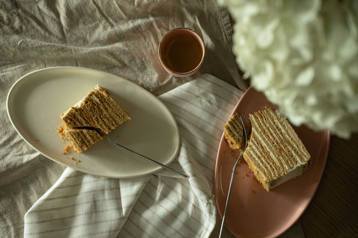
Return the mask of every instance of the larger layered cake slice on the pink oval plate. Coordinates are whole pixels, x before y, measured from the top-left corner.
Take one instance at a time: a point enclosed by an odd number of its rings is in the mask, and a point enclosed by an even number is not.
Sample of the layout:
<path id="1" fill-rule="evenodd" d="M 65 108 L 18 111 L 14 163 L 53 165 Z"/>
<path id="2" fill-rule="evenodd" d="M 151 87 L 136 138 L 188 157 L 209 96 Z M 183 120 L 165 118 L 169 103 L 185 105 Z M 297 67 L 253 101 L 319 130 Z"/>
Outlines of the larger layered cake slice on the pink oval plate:
<path id="1" fill-rule="evenodd" d="M 266 107 L 250 114 L 250 121 L 251 137 L 243 157 L 267 191 L 311 167 L 310 154 L 279 111 Z"/>

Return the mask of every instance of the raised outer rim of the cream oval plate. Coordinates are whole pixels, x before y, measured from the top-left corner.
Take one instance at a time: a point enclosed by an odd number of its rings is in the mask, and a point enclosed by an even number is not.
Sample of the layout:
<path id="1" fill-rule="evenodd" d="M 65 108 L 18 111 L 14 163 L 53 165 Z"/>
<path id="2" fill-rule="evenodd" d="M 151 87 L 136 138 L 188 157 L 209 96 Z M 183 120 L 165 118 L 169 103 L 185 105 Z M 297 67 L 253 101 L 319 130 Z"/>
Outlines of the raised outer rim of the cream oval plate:
<path id="1" fill-rule="evenodd" d="M 137 87 L 137 88 L 140 88 L 140 90 L 142 90 L 142 92 L 146 93 L 147 95 L 149 95 L 150 97 L 153 97 L 155 98 L 155 100 L 160 103 L 162 106 L 164 106 L 164 108 L 166 108 L 166 110 L 168 110 L 169 112 L 169 115 L 171 116 L 171 118 L 173 119 L 173 121 L 175 122 L 175 128 L 176 128 L 176 135 L 178 136 L 178 143 L 176 146 L 176 150 L 175 152 L 173 153 L 173 156 L 168 160 L 166 161 L 165 165 L 169 165 L 171 162 L 174 161 L 174 159 L 176 158 L 176 156 L 178 155 L 178 152 L 179 152 L 179 149 L 180 149 L 180 132 L 179 132 L 179 127 L 178 127 L 178 124 L 173 116 L 173 113 L 171 113 L 171 111 L 169 110 L 169 108 L 161 101 L 159 100 L 159 98 L 157 98 L 156 96 L 154 96 L 152 93 L 150 93 L 149 91 L 145 90 L 145 88 L 142 88 L 140 87 L 139 85 L 137 85 L 136 83 L 134 82 L 131 82 L 127 79 L 124 79 L 120 76 L 117 76 L 117 75 L 114 75 L 114 74 L 111 74 L 111 73 L 108 73 L 108 72 L 104 72 L 104 71 L 101 71 L 101 70 L 95 70 L 95 69 L 90 69 L 90 68 L 86 68 L 86 67 L 76 67 L 76 66 L 55 66 L 55 67 L 47 67 L 47 68 L 42 68 L 42 69 L 38 69 L 38 70 L 34 70 L 34 71 L 31 71 L 23 76 L 21 76 L 18 80 L 16 80 L 13 85 L 10 87 L 10 90 L 8 92 L 8 95 L 6 97 L 6 111 L 7 111 L 7 114 L 8 114 L 8 118 L 11 122 L 11 125 L 13 125 L 13 127 L 15 128 L 16 132 L 20 135 L 20 137 L 28 144 L 30 145 L 34 150 L 36 150 L 37 152 L 39 152 L 41 155 L 45 156 L 46 158 L 49 158 L 51 159 L 52 161 L 55 161 L 59 164 L 62 164 L 63 166 L 66 166 L 66 167 L 70 167 L 70 168 L 73 168 L 77 171 L 80 171 L 80 172 L 84 172 L 84 173 L 88 173 L 88 174 L 92 174 L 92 175 L 96 175 L 96 176 L 101 176 L 101 177 L 107 177 L 107 178 L 136 178 L 136 177 L 141 177 L 141 176 L 145 176 L 145 175 L 148 175 L 148 174 L 152 174 L 152 173 L 155 173 L 155 172 L 158 172 L 160 171 L 161 169 L 163 169 L 163 167 L 158 167 L 156 169 L 152 169 L 151 171 L 148 171 L 146 173 L 142 173 L 142 174 L 139 174 L 139 175 L 136 175 L 136 176 L 129 176 L 129 177 L 122 177 L 122 176 L 106 176 L 105 174 L 102 174 L 102 173 L 96 173 L 95 171 L 87 171 L 86 169 L 81 169 L 81 168 L 76 168 L 74 166 L 69 166 L 68 164 L 66 163 L 62 163 L 61 161 L 58 161 L 57 159 L 54 159 L 52 157 L 49 157 L 47 155 L 45 155 L 43 152 L 41 152 L 38 148 L 36 148 L 34 145 L 32 145 L 32 143 L 30 143 L 28 140 L 26 140 L 26 138 L 20 133 L 19 131 L 19 128 L 20 128 L 20 125 L 16 125 L 16 123 L 14 123 L 13 121 L 13 118 L 12 116 L 14 116 L 14 112 L 12 110 L 10 110 L 10 97 L 13 93 L 16 93 L 16 91 L 14 91 L 15 87 L 21 83 L 23 80 L 26 80 L 26 78 L 29 76 L 29 75 L 32 75 L 32 74 L 36 74 L 40 71 L 47 71 L 47 70 L 54 70 L 54 69 L 79 69 L 79 70 L 86 70 L 86 71 L 93 71 L 93 72 L 97 72 L 97 73 L 100 73 L 100 74 L 105 74 L 105 75 L 111 75 L 112 77 L 115 76 L 118 80 L 124 80 L 126 81 L 127 83 L 129 84 L 132 84 L 134 85 L 134 87 Z"/>

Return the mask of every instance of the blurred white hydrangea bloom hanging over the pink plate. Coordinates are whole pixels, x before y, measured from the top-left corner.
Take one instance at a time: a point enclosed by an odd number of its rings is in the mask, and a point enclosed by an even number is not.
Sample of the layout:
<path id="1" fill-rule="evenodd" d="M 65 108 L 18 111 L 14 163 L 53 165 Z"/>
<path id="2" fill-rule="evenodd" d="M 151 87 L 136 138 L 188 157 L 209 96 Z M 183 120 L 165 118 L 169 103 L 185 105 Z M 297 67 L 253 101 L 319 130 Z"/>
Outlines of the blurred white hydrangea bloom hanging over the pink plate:
<path id="1" fill-rule="evenodd" d="M 245 77 L 291 123 L 358 131 L 358 1 L 218 0 Z"/>

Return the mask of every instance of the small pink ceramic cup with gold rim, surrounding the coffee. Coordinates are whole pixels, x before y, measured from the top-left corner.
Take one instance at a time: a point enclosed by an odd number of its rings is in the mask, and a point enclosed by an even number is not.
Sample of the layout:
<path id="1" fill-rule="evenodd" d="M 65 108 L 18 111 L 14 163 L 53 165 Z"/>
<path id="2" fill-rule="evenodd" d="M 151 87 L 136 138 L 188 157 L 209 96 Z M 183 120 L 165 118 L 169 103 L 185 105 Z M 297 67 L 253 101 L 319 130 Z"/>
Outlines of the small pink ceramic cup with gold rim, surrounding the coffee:
<path id="1" fill-rule="evenodd" d="M 166 45 L 168 44 L 168 42 L 170 42 L 170 40 L 173 39 L 173 37 L 176 37 L 179 35 L 191 36 L 198 43 L 199 51 L 201 53 L 201 58 L 200 58 L 200 60 L 198 60 L 198 64 L 196 66 L 194 66 L 195 67 L 194 69 L 187 71 L 187 72 L 175 71 L 175 69 L 171 66 L 171 64 L 166 59 L 166 58 L 168 58 L 168 56 L 165 56 L 165 52 L 164 52 L 165 47 L 167 47 Z M 161 39 L 160 44 L 159 44 L 158 53 L 159 53 L 159 59 L 160 59 L 161 65 L 163 65 L 164 69 L 169 74 L 174 75 L 176 77 L 187 77 L 187 76 L 193 75 L 202 66 L 202 64 L 204 62 L 204 58 L 205 58 L 205 44 L 204 44 L 202 37 L 197 32 L 195 32 L 191 29 L 188 29 L 188 28 L 179 27 L 179 28 L 174 28 L 173 30 L 168 31 L 163 36 L 163 38 Z M 188 56 L 188 57 L 190 57 L 190 56 Z M 200 56 L 198 56 L 198 57 L 200 57 Z"/>

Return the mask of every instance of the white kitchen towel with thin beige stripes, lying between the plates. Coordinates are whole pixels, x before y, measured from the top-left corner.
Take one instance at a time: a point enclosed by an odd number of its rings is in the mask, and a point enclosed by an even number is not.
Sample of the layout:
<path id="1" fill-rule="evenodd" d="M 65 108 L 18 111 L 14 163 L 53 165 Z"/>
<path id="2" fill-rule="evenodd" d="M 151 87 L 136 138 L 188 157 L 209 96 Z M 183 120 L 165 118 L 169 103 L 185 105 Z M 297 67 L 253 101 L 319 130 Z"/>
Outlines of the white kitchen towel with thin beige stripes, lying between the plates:
<path id="1" fill-rule="evenodd" d="M 180 131 L 180 150 L 169 166 L 189 179 L 166 169 L 111 179 L 66 168 L 25 214 L 24 237 L 209 237 L 217 218 L 217 150 L 242 94 L 204 74 L 159 96 Z"/>

